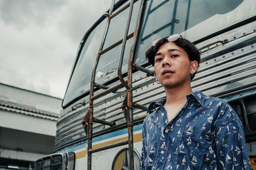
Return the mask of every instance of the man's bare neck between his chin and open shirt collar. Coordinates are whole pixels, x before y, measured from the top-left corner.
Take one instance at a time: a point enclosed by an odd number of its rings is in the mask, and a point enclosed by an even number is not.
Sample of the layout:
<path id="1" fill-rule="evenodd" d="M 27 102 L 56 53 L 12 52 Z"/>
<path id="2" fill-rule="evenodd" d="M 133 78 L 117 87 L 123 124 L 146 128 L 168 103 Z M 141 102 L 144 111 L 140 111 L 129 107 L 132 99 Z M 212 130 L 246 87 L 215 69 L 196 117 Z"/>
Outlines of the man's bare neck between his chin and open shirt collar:
<path id="1" fill-rule="evenodd" d="M 164 88 L 166 93 L 166 103 L 164 105 L 184 104 L 186 95 L 191 94 L 191 86 Z"/>

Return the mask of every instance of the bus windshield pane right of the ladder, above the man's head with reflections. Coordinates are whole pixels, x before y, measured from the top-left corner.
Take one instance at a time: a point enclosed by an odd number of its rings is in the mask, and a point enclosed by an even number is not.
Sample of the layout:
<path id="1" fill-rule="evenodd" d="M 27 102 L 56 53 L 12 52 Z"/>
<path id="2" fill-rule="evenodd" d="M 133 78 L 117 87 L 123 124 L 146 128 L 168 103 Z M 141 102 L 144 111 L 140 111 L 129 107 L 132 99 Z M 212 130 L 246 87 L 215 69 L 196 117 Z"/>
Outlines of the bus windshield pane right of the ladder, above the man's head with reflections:
<path id="1" fill-rule="evenodd" d="M 196 41 L 255 16 L 255 0 L 147 1 L 136 64 L 145 64 L 151 43 L 170 34 Z"/>

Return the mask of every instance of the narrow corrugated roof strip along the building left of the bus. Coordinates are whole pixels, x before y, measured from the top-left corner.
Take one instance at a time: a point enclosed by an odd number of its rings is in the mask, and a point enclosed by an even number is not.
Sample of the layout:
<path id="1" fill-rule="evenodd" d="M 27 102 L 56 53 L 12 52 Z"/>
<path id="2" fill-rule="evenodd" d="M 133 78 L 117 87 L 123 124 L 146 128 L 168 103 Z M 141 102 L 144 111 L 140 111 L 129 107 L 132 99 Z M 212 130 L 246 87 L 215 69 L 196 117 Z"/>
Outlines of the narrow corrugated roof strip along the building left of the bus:
<path id="1" fill-rule="evenodd" d="M 29 106 L 24 106 L 22 104 L 11 103 L 3 100 L 0 100 L 0 110 L 12 111 L 15 113 L 30 115 L 33 117 L 45 118 L 45 119 L 54 120 L 54 121 L 57 121 L 58 117 L 60 116 L 56 113 L 37 110 L 36 108 L 31 108 Z"/>

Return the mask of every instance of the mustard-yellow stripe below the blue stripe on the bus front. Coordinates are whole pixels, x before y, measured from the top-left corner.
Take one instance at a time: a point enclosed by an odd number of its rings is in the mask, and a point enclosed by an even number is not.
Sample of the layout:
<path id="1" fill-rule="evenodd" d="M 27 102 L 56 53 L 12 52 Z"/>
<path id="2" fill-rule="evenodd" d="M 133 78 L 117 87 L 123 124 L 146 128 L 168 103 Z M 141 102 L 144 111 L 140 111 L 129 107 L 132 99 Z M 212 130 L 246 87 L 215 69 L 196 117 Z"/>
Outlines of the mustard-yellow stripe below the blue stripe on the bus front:
<path id="1" fill-rule="evenodd" d="M 117 143 L 117 142 L 120 142 L 120 141 L 125 141 L 127 140 L 128 137 L 124 137 L 124 138 L 119 138 L 119 139 L 115 139 L 115 140 L 112 140 L 112 141 L 106 141 L 104 143 L 99 143 L 97 145 L 93 145 L 92 148 L 95 149 L 95 148 L 99 148 L 99 147 L 102 147 L 102 146 L 106 146 L 106 145 L 110 145 L 110 144 L 113 144 L 113 143 Z M 142 134 L 134 134 L 133 135 L 133 143 L 137 143 L 137 142 L 140 142 L 142 141 Z M 80 158 L 83 158 L 85 157 L 87 154 L 87 148 L 86 150 L 83 150 L 81 152 L 77 152 L 76 153 L 76 159 L 80 159 Z"/>

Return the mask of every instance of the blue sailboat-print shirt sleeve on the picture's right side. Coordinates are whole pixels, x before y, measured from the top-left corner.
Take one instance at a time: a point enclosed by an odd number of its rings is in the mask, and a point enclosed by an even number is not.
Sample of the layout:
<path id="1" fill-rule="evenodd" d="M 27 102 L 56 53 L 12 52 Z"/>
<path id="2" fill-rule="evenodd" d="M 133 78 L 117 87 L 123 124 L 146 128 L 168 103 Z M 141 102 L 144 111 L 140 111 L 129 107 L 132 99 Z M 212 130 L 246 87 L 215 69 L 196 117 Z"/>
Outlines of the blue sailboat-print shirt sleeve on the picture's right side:
<path id="1" fill-rule="evenodd" d="M 214 124 L 218 169 L 252 169 L 245 145 L 241 120 L 225 103 Z"/>

